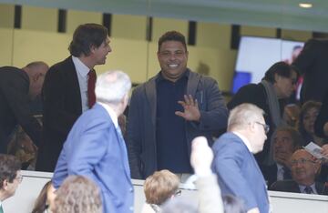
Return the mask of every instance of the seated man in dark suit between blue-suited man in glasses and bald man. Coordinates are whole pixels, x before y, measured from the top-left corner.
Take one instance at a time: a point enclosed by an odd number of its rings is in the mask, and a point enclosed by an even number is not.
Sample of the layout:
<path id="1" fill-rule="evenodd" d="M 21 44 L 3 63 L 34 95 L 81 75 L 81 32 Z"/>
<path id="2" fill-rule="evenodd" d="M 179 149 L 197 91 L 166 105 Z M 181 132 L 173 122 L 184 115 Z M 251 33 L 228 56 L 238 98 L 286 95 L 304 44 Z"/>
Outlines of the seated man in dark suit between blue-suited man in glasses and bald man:
<path id="1" fill-rule="evenodd" d="M 291 179 L 292 153 L 303 144 L 302 137 L 292 127 L 279 127 L 272 135 L 273 161 L 271 166 L 262 166 L 261 171 L 268 187 L 273 182 Z"/>

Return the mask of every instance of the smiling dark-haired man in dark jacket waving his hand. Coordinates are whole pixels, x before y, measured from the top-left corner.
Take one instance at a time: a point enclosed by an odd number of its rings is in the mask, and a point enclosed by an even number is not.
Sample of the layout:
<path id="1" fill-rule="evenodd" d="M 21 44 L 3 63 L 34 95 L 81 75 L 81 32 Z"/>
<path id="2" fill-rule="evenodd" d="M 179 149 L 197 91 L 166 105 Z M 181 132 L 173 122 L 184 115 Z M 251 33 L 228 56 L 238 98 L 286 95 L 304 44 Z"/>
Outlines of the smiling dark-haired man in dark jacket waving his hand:
<path id="1" fill-rule="evenodd" d="M 159 38 L 157 76 L 138 86 L 128 111 L 129 163 L 134 178 L 169 169 L 181 181 L 192 173 L 191 140 L 225 129 L 228 110 L 217 82 L 187 68 L 184 35 L 169 31 Z"/>

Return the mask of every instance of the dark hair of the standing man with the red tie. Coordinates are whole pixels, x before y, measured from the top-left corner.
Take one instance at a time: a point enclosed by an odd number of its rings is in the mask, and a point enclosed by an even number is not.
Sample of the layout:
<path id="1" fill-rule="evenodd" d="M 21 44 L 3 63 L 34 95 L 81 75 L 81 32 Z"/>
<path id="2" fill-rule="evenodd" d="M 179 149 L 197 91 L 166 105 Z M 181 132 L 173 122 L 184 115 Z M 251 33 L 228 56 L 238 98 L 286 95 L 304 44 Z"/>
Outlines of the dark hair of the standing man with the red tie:
<path id="1" fill-rule="evenodd" d="M 108 29 L 103 25 L 84 24 L 77 26 L 68 50 L 72 56 L 90 55 L 90 47 L 99 47 L 106 41 Z"/>

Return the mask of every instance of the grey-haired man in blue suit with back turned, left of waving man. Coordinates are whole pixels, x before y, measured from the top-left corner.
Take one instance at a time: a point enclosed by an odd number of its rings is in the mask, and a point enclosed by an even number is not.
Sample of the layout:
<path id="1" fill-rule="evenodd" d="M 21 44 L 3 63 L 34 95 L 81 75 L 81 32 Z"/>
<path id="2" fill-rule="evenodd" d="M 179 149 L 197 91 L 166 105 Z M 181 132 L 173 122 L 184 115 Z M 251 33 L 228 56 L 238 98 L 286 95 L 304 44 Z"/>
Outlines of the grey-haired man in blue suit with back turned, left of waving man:
<path id="1" fill-rule="evenodd" d="M 118 116 L 128 105 L 131 81 L 120 71 L 97 77 L 97 103 L 77 119 L 58 158 L 53 177 L 59 188 L 70 175 L 97 183 L 104 212 L 133 212 L 128 154 Z"/>

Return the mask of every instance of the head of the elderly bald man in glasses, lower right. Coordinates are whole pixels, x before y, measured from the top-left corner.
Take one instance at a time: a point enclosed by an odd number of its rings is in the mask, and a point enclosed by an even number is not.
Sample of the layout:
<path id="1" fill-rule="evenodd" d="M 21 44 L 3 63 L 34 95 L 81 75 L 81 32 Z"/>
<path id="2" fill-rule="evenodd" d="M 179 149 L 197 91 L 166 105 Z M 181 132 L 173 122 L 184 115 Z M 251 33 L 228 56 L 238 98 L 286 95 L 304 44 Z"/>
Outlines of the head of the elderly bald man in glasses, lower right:
<path id="1" fill-rule="evenodd" d="M 291 157 L 292 179 L 303 186 L 314 183 L 320 163 L 305 149 L 296 150 Z"/>

